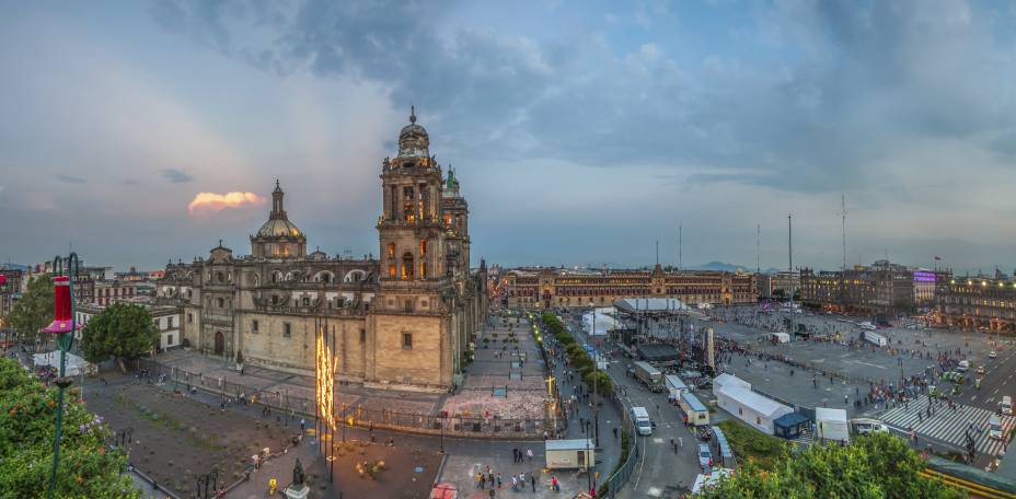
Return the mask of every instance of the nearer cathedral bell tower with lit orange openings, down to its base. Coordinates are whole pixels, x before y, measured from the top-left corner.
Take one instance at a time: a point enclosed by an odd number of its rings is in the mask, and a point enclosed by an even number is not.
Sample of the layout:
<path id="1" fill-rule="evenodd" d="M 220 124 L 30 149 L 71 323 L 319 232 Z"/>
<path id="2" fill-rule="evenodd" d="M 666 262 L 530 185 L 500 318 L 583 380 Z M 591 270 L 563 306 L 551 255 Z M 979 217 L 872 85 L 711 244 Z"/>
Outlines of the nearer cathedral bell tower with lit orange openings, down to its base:
<path id="1" fill-rule="evenodd" d="M 368 314 L 366 384 L 386 380 L 447 391 L 452 384 L 451 297 L 446 276 L 441 166 L 416 111 L 399 155 L 381 165 L 380 276 Z"/>

